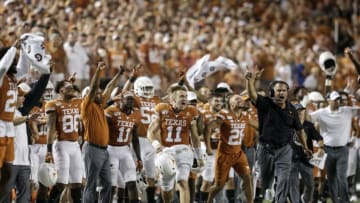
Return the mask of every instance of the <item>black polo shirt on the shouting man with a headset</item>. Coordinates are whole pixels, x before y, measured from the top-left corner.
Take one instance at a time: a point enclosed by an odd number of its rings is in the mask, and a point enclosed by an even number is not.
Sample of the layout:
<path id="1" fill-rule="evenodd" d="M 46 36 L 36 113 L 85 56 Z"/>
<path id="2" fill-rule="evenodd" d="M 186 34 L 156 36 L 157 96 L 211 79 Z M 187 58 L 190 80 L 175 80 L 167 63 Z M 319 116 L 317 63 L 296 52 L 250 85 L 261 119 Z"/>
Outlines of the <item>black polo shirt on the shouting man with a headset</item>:
<path id="1" fill-rule="evenodd" d="M 299 115 L 288 101 L 281 109 L 271 98 L 258 95 L 255 106 L 259 117 L 260 143 L 283 146 L 290 143 L 296 131 L 302 129 Z"/>

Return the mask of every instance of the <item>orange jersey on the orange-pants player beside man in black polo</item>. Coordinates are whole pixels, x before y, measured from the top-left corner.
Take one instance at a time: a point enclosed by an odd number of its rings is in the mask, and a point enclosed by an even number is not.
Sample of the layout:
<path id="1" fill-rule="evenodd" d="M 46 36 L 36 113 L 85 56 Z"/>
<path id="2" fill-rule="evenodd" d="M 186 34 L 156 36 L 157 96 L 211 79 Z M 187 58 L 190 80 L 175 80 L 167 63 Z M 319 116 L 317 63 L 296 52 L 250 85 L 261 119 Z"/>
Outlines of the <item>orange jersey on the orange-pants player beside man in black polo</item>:
<path id="1" fill-rule="evenodd" d="M 220 127 L 220 141 L 218 150 L 223 153 L 239 153 L 245 134 L 250 132 L 249 116 L 221 110 L 217 117 L 223 121 Z"/>

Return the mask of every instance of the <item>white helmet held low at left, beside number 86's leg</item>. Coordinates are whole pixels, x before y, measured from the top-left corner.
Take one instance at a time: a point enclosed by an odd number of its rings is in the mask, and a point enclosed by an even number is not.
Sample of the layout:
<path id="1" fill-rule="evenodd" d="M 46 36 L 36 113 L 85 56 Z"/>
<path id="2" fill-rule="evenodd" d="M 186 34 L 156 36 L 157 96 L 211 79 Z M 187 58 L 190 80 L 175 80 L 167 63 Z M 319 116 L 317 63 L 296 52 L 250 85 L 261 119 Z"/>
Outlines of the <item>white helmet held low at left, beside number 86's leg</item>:
<path id="1" fill-rule="evenodd" d="M 38 179 L 46 187 L 55 185 L 57 180 L 55 165 L 52 163 L 42 163 L 39 168 Z"/>

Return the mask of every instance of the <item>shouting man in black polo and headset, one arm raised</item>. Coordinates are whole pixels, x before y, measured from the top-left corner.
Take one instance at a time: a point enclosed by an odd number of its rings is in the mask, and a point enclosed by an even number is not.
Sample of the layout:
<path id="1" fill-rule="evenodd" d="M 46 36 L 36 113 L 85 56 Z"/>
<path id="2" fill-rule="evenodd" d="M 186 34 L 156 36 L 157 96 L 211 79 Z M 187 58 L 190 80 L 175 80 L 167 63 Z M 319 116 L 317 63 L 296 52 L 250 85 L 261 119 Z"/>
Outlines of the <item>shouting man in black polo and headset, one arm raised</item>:
<path id="1" fill-rule="evenodd" d="M 292 148 L 290 140 L 299 132 L 299 139 L 304 146 L 304 151 L 309 152 L 304 131 L 295 107 L 287 101 L 289 86 L 284 81 L 273 81 L 269 86 L 269 96 L 257 95 L 255 78 L 259 78 L 262 71 L 256 70 L 255 74 L 247 72 L 246 89 L 255 104 L 259 117 L 260 142 L 258 145 L 258 161 L 262 193 L 270 188 L 274 176 L 276 177 L 277 203 L 286 202 L 289 188 L 291 170 Z"/>

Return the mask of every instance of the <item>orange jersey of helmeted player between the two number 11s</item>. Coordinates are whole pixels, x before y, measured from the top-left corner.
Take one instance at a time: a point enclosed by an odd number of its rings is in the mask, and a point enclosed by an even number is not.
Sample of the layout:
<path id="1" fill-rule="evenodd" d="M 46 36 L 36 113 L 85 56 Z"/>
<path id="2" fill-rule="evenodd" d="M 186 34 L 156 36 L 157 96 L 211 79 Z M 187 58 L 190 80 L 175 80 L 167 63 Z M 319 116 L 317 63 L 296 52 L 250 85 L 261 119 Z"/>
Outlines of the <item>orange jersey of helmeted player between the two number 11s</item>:
<path id="1" fill-rule="evenodd" d="M 160 103 L 160 99 L 158 97 L 153 98 L 144 98 L 135 96 L 135 106 L 139 109 L 141 113 L 140 123 L 138 127 L 139 136 L 146 137 L 147 129 L 151 121 L 153 120 L 155 114 L 155 106 Z"/>

